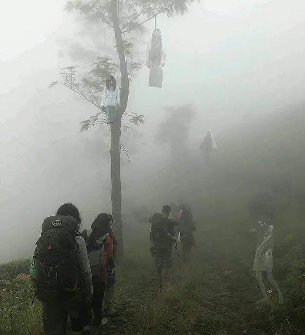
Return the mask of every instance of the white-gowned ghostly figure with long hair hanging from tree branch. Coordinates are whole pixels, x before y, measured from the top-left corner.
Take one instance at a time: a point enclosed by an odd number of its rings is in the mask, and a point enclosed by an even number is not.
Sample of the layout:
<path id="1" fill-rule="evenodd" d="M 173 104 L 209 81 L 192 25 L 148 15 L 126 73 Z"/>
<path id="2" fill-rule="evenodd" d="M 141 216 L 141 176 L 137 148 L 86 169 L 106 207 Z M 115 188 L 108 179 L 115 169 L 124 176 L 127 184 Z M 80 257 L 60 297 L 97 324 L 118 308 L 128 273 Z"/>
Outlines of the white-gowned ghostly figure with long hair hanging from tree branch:
<path id="1" fill-rule="evenodd" d="M 162 33 L 159 29 L 153 31 L 152 39 L 146 48 L 146 66 L 149 68 L 148 86 L 162 88 L 165 52 L 162 45 Z"/>

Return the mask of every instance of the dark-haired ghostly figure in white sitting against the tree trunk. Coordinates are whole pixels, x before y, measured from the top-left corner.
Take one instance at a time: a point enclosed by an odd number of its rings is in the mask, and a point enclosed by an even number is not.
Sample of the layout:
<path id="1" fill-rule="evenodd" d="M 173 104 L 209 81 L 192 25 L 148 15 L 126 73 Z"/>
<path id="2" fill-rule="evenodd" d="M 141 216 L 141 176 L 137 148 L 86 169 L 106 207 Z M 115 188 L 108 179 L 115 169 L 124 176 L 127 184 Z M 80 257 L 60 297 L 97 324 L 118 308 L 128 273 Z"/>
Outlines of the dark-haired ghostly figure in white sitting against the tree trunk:
<path id="1" fill-rule="evenodd" d="M 119 87 L 114 76 L 106 79 L 106 85 L 102 95 L 101 107 L 106 108 L 108 123 L 114 123 L 117 109 L 120 108 Z"/>

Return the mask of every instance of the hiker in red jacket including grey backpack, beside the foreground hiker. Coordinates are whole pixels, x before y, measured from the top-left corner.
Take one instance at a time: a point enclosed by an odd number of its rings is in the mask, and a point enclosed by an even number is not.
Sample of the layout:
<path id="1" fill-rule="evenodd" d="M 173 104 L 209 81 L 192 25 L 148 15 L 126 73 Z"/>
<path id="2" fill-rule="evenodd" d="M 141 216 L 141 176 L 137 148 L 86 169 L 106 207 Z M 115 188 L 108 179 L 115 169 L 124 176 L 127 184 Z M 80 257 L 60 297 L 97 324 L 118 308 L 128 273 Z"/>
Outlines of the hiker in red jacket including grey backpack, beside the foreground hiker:
<path id="1" fill-rule="evenodd" d="M 102 317 L 102 305 L 107 281 L 107 267 L 114 272 L 113 239 L 109 232 L 110 216 L 99 214 L 91 225 L 91 230 L 84 230 L 89 263 L 93 282 L 93 327 L 101 327 L 107 322 Z M 86 329 L 90 328 L 87 325 Z"/>

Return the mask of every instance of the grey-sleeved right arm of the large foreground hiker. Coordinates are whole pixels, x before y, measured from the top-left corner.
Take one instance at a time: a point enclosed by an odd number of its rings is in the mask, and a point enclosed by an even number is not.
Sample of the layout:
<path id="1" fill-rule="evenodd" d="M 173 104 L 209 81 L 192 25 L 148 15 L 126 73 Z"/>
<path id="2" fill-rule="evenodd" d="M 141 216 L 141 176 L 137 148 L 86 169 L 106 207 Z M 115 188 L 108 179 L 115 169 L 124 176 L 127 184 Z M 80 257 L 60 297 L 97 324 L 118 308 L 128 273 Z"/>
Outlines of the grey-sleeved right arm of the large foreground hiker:
<path id="1" fill-rule="evenodd" d="M 92 287 L 92 274 L 90 269 L 90 264 L 88 260 L 88 254 L 86 249 L 85 240 L 82 236 L 76 236 L 75 240 L 78 244 L 77 252 L 77 261 L 82 273 L 82 278 L 85 284 L 85 292 L 87 297 L 92 296 L 93 287 Z"/>

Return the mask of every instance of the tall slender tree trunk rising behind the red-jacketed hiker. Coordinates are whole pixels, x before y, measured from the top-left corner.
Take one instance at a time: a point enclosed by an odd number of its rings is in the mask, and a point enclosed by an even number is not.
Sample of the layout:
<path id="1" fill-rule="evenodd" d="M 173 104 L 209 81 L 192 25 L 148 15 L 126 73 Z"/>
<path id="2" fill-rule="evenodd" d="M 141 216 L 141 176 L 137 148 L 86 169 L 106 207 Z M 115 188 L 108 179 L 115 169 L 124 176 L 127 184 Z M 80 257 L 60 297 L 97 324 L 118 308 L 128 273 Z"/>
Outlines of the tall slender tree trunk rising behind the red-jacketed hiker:
<path id="1" fill-rule="evenodd" d="M 110 159 L 111 159 L 111 204 L 112 215 L 117 228 L 117 255 L 123 253 L 123 227 L 122 227 L 122 191 L 121 191 L 121 168 L 120 168 L 120 129 L 122 115 L 126 110 L 129 97 L 129 78 L 125 57 L 122 33 L 119 27 L 118 1 L 111 0 L 111 17 L 116 38 L 116 45 L 119 54 L 119 65 L 121 72 L 121 108 L 118 110 L 115 123 L 110 130 Z"/>

